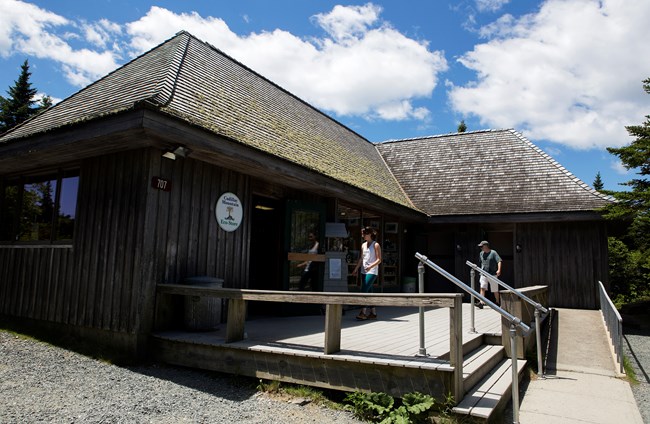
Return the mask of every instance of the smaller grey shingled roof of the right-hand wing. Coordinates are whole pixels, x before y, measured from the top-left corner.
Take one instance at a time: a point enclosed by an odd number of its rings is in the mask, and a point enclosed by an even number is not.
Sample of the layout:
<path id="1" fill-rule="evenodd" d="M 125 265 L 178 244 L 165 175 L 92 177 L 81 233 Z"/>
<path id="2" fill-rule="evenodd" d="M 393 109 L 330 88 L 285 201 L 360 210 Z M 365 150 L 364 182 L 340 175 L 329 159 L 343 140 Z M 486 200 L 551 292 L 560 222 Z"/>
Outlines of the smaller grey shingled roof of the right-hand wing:
<path id="1" fill-rule="evenodd" d="M 592 212 L 611 202 L 514 130 L 377 147 L 411 201 L 429 216 Z"/>

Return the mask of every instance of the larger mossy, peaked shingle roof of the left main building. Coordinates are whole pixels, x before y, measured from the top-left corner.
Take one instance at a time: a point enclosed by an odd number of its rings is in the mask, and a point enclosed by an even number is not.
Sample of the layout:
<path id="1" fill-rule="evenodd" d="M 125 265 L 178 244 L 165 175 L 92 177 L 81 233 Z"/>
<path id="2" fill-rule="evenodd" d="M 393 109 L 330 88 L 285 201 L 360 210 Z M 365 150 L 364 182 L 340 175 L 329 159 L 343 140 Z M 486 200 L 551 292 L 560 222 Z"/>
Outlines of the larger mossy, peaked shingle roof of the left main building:
<path id="1" fill-rule="evenodd" d="M 412 208 L 374 144 L 186 32 L 0 137 L 0 145 L 134 108 L 161 112 Z"/>

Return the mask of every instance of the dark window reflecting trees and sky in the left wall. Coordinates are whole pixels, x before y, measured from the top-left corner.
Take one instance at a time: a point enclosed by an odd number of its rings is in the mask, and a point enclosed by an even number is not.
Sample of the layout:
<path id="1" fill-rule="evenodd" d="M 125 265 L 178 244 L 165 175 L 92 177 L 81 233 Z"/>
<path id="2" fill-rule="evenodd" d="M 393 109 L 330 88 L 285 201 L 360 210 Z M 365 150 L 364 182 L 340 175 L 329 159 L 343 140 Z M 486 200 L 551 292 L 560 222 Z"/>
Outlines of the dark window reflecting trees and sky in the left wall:
<path id="1" fill-rule="evenodd" d="M 0 192 L 0 241 L 72 240 L 79 171 L 5 180 Z"/>

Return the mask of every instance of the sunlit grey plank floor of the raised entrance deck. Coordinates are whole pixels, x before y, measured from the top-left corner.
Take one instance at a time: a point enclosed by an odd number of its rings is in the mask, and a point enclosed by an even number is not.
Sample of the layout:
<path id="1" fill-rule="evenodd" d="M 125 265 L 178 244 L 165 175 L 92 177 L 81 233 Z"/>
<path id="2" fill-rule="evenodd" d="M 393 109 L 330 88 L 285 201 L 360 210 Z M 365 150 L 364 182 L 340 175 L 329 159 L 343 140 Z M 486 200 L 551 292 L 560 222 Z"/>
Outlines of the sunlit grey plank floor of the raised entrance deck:
<path id="1" fill-rule="evenodd" d="M 470 333 L 470 305 L 463 305 L 463 343 L 482 337 L 483 333 L 501 331 L 500 316 L 486 308 L 476 310 L 477 333 Z M 322 352 L 324 316 L 254 317 L 245 323 L 246 340 L 228 343 L 230 347 L 282 353 L 290 356 L 333 357 L 340 360 L 413 365 L 449 355 L 449 312 L 447 308 L 426 308 L 425 347 L 428 358 L 413 359 L 419 351 L 419 315 L 417 308 L 385 307 L 377 320 L 358 321 L 356 313 L 342 317 L 341 351 L 333 355 Z M 225 324 L 215 331 L 189 333 L 168 331 L 157 337 L 187 343 L 225 345 Z M 406 358 L 409 358 L 406 360 Z"/>

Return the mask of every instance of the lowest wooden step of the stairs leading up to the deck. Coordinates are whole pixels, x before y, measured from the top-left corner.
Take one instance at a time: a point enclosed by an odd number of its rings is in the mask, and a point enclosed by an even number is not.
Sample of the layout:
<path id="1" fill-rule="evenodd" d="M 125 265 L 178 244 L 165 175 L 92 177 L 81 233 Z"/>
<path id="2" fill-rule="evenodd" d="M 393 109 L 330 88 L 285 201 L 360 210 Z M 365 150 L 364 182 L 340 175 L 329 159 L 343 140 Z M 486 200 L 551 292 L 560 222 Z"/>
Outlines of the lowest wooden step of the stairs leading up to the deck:
<path id="1" fill-rule="evenodd" d="M 512 368 L 510 358 L 502 359 L 492 372 L 472 387 L 463 400 L 453 408 L 459 415 L 467 415 L 487 421 L 502 409 L 512 394 Z M 519 380 L 523 376 L 526 360 L 517 361 Z"/>

